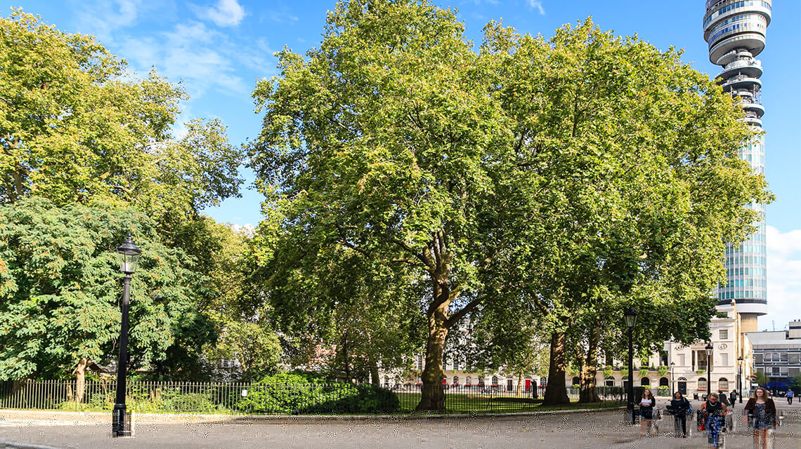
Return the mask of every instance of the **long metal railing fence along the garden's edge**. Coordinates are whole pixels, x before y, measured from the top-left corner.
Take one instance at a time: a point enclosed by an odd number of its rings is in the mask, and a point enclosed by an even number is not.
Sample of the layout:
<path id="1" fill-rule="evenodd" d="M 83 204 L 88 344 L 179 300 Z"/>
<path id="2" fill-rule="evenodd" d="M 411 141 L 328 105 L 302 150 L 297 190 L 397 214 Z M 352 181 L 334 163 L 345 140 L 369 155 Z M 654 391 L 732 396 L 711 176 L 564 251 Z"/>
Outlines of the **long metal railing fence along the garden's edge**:
<path id="1" fill-rule="evenodd" d="M 114 380 L 87 381 L 83 394 L 75 381 L 14 381 L 0 383 L 0 408 L 63 411 L 111 411 Z M 484 385 L 434 386 L 442 391 L 448 413 L 545 411 L 536 391 L 508 390 Z M 200 414 L 384 414 L 409 413 L 420 403 L 421 385 L 378 387 L 352 383 L 127 383 L 127 409 L 135 413 Z M 542 390 L 540 390 L 542 392 Z M 599 387 L 602 403 L 589 407 L 618 407 L 625 399 L 621 387 Z M 437 393 L 434 391 L 433 393 Z M 568 387 L 571 402 L 578 388 Z M 588 407 L 582 405 L 581 407 Z"/>

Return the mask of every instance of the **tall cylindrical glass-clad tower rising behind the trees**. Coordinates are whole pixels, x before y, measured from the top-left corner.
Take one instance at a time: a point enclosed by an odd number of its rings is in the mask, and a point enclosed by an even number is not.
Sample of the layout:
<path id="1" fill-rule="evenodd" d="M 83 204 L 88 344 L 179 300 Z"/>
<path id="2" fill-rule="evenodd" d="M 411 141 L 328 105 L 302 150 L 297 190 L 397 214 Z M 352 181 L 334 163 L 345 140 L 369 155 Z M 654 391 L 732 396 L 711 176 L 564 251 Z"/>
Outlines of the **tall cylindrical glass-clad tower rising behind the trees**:
<path id="1" fill-rule="evenodd" d="M 739 99 L 745 110 L 743 119 L 762 127 L 765 108 L 760 101 L 762 62 L 755 57 L 765 48 L 765 34 L 771 23 L 769 0 L 708 0 L 703 19 L 704 39 L 709 59 L 723 70 L 715 78 L 723 90 Z M 758 173 L 765 173 L 765 142 L 760 137 L 740 150 L 740 157 Z M 727 285 L 718 289 L 718 303 L 737 303 L 742 315 L 767 313 L 767 247 L 765 206 L 751 204 L 762 219 L 757 231 L 739 245 L 727 245 Z"/>

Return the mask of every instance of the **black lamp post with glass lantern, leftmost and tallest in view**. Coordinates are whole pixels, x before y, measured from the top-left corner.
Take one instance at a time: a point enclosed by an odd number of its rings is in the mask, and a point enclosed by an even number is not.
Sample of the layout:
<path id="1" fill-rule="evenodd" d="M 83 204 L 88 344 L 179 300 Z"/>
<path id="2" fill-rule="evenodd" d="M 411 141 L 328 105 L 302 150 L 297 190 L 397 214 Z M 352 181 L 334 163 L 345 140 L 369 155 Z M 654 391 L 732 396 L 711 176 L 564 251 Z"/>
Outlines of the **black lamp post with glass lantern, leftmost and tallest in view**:
<path id="1" fill-rule="evenodd" d="M 125 274 L 123 278 L 123 303 L 122 323 L 119 330 L 119 359 L 117 361 L 117 397 L 115 399 L 114 411 L 111 415 L 111 436 L 131 436 L 131 421 L 126 422 L 125 412 L 125 376 L 127 375 L 128 362 L 128 305 L 131 303 L 131 275 L 136 271 L 139 263 L 139 255 L 142 254 L 131 239 L 131 235 L 125 243 L 117 248 L 119 257 L 119 271 Z"/>

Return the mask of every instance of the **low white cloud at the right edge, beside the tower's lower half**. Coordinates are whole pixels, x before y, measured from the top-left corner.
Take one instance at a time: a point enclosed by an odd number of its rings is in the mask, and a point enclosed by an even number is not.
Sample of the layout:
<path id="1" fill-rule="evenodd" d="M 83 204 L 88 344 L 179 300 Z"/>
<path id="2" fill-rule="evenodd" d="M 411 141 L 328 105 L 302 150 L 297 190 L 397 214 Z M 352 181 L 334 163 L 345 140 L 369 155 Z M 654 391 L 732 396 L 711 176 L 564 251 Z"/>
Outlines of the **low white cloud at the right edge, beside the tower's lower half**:
<path id="1" fill-rule="evenodd" d="M 780 232 L 767 227 L 767 315 L 759 330 L 783 329 L 801 319 L 801 230 Z"/>

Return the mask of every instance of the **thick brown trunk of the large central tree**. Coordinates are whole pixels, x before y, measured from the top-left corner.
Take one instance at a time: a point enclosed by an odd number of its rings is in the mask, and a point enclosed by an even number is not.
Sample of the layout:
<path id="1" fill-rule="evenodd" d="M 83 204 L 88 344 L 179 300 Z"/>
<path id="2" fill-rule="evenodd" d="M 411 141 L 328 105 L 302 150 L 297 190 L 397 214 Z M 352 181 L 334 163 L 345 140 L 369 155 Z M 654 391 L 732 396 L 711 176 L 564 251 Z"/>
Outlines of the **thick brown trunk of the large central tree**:
<path id="1" fill-rule="evenodd" d="M 423 369 L 423 391 L 416 411 L 445 411 L 445 389 L 442 387 L 442 351 L 445 349 L 445 311 L 438 307 L 429 316 L 429 338 L 425 343 L 425 368 Z M 445 307 L 447 310 L 447 306 Z"/>

